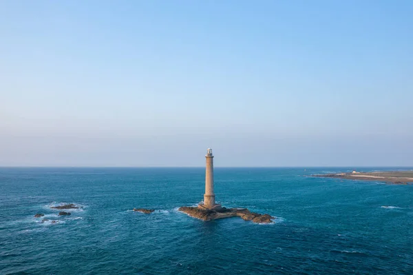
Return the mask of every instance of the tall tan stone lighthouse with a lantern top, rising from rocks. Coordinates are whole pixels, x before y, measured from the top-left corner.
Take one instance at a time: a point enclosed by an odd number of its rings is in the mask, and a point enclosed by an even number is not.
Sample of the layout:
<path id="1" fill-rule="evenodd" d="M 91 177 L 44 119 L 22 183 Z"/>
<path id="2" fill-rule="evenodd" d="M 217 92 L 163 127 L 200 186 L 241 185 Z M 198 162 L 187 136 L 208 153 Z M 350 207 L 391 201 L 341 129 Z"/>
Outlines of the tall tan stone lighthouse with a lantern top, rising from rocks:
<path id="1" fill-rule="evenodd" d="M 205 169 L 204 201 L 198 207 L 208 210 L 218 209 L 221 205 L 215 203 L 215 194 L 213 192 L 213 154 L 211 148 L 208 148 L 205 159 L 207 159 L 207 163 Z"/>

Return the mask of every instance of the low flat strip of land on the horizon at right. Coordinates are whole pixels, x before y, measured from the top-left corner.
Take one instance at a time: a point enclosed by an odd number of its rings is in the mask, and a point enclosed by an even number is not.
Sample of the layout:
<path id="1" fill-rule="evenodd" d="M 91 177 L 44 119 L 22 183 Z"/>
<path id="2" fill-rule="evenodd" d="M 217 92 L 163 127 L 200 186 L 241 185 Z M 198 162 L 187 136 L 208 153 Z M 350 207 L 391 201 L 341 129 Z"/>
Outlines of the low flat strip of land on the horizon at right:
<path id="1" fill-rule="evenodd" d="M 338 174 L 315 174 L 319 178 L 352 179 L 359 181 L 382 181 L 389 184 L 407 185 L 413 183 L 413 171 L 350 172 Z"/>

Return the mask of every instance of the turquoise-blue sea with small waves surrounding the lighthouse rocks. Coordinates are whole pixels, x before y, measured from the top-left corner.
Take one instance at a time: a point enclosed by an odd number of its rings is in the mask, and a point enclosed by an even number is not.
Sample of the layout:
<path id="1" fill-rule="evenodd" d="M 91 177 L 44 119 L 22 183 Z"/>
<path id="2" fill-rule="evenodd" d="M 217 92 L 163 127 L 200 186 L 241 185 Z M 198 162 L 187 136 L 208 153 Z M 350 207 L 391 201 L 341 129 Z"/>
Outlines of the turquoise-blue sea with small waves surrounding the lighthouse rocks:
<path id="1" fill-rule="evenodd" d="M 177 211 L 203 168 L 0 168 L 0 274 L 413 274 L 413 185 L 306 176 L 347 170 L 215 168 L 219 203 L 278 217 L 259 225 Z"/>

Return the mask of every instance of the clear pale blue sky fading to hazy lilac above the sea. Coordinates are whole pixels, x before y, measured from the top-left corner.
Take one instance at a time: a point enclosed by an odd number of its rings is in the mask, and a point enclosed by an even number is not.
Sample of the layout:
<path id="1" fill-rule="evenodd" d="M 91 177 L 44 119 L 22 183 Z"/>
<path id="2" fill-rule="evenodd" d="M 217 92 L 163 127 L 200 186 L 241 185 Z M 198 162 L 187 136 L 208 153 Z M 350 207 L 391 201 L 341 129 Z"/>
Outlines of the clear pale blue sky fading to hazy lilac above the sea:
<path id="1" fill-rule="evenodd" d="M 413 166 L 413 1 L 0 1 L 0 166 Z"/>

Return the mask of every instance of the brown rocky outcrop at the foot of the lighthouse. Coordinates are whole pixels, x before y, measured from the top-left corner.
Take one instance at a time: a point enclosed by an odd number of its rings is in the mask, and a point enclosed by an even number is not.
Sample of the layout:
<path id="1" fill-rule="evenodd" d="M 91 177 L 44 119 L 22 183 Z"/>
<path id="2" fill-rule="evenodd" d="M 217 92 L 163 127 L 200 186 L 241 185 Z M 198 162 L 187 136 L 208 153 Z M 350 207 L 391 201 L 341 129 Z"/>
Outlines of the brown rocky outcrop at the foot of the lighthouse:
<path id="1" fill-rule="evenodd" d="M 212 221 L 218 218 L 231 218 L 239 216 L 244 221 L 253 221 L 253 223 L 272 223 L 275 217 L 268 214 L 258 214 L 249 211 L 246 208 L 226 208 L 222 207 L 217 210 L 202 210 L 198 207 L 182 206 L 178 209 L 193 218 L 200 218 L 202 221 Z"/>

